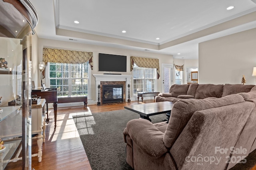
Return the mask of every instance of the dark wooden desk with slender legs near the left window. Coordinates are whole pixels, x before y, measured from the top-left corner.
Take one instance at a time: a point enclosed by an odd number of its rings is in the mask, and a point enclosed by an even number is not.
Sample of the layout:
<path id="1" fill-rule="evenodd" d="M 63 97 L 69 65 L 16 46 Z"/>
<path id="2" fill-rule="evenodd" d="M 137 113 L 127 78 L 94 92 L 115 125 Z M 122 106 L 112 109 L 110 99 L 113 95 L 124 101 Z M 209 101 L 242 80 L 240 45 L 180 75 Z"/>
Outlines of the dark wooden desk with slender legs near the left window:
<path id="1" fill-rule="evenodd" d="M 57 88 L 50 88 L 46 89 L 45 91 L 42 90 L 42 87 L 39 88 L 32 88 L 31 96 L 41 96 L 46 100 L 46 111 L 47 111 L 47 118 L 46 121 L 49 121 L 48 115 L 48 103 L 53 103 L 54 109 L 54 129 L 56 129 L 56 121 L 57 121 Z"/>

